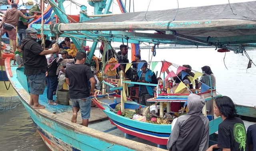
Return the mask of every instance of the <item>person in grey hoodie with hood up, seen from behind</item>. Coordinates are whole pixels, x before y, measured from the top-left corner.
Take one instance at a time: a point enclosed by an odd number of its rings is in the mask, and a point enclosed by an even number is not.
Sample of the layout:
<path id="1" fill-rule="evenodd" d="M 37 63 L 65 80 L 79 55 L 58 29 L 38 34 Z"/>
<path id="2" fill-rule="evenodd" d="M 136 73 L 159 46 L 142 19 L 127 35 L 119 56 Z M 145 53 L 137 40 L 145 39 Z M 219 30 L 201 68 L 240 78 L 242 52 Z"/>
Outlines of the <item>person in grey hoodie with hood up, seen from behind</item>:
<path id="1" fill-rule="evenodd" d="M 201 111 L 202 97 L 188 96 L 188 113 L 178 117 L 167 142 L 169 151 L 206 151 L 209 145 L 209 119 Z"/>

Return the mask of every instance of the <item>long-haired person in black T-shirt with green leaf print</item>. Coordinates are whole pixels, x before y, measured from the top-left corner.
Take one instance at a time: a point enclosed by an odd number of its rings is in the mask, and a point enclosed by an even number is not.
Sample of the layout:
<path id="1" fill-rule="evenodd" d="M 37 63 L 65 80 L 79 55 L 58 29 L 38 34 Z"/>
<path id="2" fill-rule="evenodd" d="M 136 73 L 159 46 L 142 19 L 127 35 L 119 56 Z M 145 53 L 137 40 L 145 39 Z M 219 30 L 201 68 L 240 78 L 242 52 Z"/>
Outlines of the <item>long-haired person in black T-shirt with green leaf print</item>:
<path id="1" fill-rule="evenodd" d="M 242 119 L 236 117 L 234 102 L 230 97 L 217 97 L 214 113 L 222 118 L 218 128 L 218 143 L 210 146 L 207 151 L 248 151 L 246 129 Z"/>

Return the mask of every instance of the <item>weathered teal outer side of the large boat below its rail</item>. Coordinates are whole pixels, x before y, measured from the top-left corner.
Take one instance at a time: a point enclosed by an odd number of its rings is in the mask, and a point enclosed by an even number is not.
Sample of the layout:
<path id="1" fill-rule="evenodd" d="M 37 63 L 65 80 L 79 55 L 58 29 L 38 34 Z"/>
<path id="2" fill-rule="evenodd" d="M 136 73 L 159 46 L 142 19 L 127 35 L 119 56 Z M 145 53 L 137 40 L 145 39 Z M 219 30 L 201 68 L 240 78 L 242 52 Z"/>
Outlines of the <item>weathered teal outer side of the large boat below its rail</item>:
<path id="1" fill-rule="evenodd" d="M 41 115 L 36 114 L 36 112 L 27 105 L 24 101 L 22 101 L 23 105 L 25 106 L 26 110 L 30 114 L 30 117 L 33 121 L 41 128 L 47 131 L 50 135 L 52 135 L 52 143 L 60 143 L 57 139 L 61 139 L 64 143 L 68 145 L 72 145 L 77 149 L 82 151 L 103 151 L 111 149 L 119 149 L 119 150 L 126 150 L 126 151 L 134 151 L 132 149 L 128 149 L 127 147 L 123 147 L 120 145 L 108 143 L 106 141 L 102 141 L 98 138 L 91 137 L 90 135 L 86 135 L 84 133 L 80 133 L 78 131 L 74 131 L 69 129 L 61 124 L 54 122 L 54 120 L 46 119 Z M 66 150 L 64 144 L 60 144 L 62 149 Z M 60 147 L 60 146 L 59 146 Z M 110 149 L 110 150 L 111 150 Z"/>

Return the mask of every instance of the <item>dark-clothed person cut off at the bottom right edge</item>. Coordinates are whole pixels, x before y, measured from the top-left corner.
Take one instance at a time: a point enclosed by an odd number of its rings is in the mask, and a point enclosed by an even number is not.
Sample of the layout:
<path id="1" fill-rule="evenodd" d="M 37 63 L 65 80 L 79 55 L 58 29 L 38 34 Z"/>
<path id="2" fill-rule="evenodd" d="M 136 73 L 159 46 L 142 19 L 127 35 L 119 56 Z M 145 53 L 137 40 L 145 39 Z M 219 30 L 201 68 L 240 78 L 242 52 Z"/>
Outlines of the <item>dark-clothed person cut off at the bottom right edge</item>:
<path id="1" fill-rule="evenodd" d="M 256 151 L 256 124 L 250 125 L 247 129 L 247 140 L 249 151 Z"/>

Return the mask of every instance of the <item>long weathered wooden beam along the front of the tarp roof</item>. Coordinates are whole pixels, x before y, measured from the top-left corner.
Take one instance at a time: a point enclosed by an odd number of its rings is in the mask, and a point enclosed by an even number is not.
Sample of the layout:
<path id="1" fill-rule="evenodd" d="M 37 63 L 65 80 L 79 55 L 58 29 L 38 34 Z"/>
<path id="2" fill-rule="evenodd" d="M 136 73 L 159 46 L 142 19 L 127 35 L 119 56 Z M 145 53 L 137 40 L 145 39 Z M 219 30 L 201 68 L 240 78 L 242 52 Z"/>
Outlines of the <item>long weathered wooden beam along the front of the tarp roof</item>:
<path id="1" fill-rule="evenodd" d="M 73 30 L 167 30 L 168 21 L 156 22 L 84 22 L 73 24 L 55 24 L 60 26 L 60 31 Z M 198 20 L 198 21 L 173 21 L 168 30 L 192 30 L 192 29 L 256 29 L 256 23 L 250 20 Z"/>

